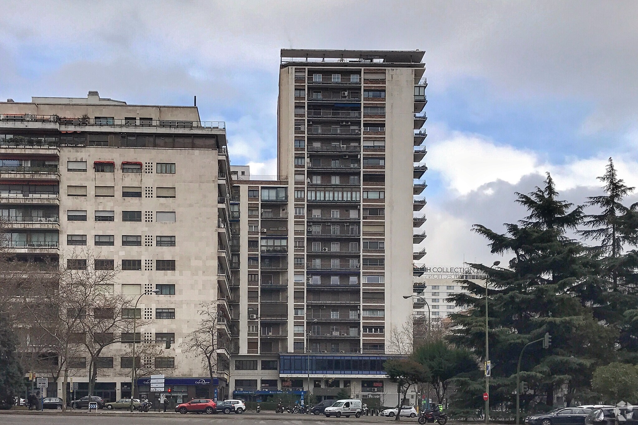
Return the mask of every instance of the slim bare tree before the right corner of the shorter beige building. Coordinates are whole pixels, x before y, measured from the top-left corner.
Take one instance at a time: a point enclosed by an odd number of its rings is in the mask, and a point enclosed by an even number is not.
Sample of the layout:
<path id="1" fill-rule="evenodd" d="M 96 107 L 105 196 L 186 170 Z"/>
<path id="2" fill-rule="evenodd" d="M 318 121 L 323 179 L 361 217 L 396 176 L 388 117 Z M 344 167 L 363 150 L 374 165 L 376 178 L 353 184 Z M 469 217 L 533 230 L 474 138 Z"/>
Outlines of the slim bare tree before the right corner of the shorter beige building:
<path id="1" fill-rule="evenodd" d="M 200 321 L 197 328 L 188 334 L 184 347 L 200 357 L 205 364 L 211 377 L 210 394 L 212 394 L 214 377 L 220 370 L 225 370 L 225 366 L 221 364 L 223 362 L 218 359 L 218 350 L 228 349 L 230 340 L 222 336 L 218 329 L 219 312 L 215 303 L 201 303 L 198 313 Z"/>

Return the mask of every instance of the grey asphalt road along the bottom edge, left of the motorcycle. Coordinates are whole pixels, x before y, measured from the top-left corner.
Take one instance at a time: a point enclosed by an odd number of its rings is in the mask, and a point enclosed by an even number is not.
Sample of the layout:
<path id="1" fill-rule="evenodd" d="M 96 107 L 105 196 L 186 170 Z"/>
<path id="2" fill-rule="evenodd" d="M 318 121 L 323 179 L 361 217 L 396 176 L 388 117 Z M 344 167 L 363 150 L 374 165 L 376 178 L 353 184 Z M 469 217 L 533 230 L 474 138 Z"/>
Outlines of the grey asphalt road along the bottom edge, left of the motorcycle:
<path id="1" fill-rule="evenodd" d="M 98 412 L 96 414 L 62 414 L 57 412 L 25 412 L 25 413 L 3 413 L 0 415 L 0 424 L 3 425 L 177 425 L 177 424 L 230 424 L 230 425 L 367 425 L 367 424 L 396 424 L 394 418 L 381 416 L 369 416 L 350 418 L 336 418 L 315 415 L 293 415 L 293 414 L 273 414 L 263 412 L 261 414 L 245 413 L 242 415 L 180 415 L 172 412 L 130 414 L 115 412 Z M 418 424 L 417 419 L 401 418 L 403 424 Z"/>

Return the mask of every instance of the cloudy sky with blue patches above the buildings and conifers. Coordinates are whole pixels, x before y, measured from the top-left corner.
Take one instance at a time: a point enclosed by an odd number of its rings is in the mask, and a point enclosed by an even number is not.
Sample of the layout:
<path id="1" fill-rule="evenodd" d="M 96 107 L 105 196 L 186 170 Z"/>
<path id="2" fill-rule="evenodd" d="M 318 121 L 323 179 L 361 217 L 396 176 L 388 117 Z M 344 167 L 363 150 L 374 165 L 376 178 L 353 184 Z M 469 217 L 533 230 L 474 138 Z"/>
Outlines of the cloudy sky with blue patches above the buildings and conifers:
<path id="1" fill-rule="evenodd" d="M 274 175 L 279 49 L 424 50 L 422 263 L 491 264 L 471 226 L 521 219 L 545 173 L 574 203 L 609 157 L 638 186 L 637 20 L 635 1 L 4 0 L 0 99 L 197 96 L 232 164 Z"/>

